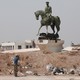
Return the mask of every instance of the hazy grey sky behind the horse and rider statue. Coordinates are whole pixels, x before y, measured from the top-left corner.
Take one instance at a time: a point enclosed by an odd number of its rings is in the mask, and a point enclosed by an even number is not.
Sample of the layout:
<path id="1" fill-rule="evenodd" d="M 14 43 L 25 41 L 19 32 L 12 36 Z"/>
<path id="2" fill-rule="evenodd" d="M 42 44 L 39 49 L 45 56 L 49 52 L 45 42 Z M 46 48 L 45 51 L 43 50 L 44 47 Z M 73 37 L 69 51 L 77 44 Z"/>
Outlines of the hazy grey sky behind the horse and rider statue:
<path id="1" fill-rule="evenodd" d="M 61 19 L 60 39 L 66 46 L 80 43 L 80 0 L 0 0 L 0 42 L 37 39 L 40 19 L 36 20 L 34 12 L 44 10 L 46 1 L 52 15 Z"/>

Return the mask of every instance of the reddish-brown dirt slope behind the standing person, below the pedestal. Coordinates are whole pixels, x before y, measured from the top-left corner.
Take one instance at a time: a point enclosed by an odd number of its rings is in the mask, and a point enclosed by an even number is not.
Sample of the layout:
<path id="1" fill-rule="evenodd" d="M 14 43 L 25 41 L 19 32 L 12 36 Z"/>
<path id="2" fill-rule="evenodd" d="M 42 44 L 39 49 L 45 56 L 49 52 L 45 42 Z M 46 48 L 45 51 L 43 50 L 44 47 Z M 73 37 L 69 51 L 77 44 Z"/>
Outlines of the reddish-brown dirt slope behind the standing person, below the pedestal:
<path id="1" fill-rule="evenodd" d="M 13 57 L 16 53 L 0 53 L 0 75 L 13 75 Z M 66 69 L 80 67 L 80 51 L 50 52 L 34 51 L 17 53 L 20 56 L 19 71 L 25 75 L 27 71 L 34 75 L 49 75 L 46 65 L 51 63 L 55 67 Z M 21 73 L 19 73 L 21 75 Z"/>

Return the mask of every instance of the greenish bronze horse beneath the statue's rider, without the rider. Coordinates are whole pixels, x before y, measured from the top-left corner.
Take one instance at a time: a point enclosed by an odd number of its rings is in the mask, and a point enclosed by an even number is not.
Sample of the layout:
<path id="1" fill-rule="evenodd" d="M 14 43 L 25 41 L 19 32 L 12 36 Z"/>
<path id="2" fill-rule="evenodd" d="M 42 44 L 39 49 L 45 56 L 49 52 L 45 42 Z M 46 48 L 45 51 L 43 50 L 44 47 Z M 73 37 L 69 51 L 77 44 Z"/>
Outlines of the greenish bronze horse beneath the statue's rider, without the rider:
<path id="1" fill-rule="evenodd" d="M 47 17 L 47 15 L 43 10 L 36 11 L 35 16 L 37 20 L 39 20 L 39 16 L 41 16 L 41 26 L 38 30 L 38 35 L 42 26 L 46 26 L 47 33 L 48 33 L 48 26 L 51 27 L 51 29 L 53 30 L 53 33 L 55 33 L 54 28 L 56 27 L 56 30 L 57 30 L 56 33 L 58 34 L 58 32 L 60 31 L 60 23 L 61 23 L 60 18 L 58 16 Z"/>

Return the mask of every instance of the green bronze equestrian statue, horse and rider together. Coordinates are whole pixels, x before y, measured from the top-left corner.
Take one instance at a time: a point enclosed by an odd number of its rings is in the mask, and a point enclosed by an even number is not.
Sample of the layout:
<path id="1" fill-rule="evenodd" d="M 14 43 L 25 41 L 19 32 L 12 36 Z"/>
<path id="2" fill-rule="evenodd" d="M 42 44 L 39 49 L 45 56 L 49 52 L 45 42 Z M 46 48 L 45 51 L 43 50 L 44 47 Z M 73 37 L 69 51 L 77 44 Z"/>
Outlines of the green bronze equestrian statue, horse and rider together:
<path id="1" fill-rule="evenodd" d="M 60 31 L 60 18 L 58 16 L 52 16 L 52 8 L 51 6 L 49 6 L 49 2 L 46 2 L 46 8 L 45 10 L 38 10 L 35 13 L 35 17 L 37 20 L 39 20 L 39 16 L 41 16 L 41 26 L 38 30 L 38 34 L 39 35 L 39 32 L 40 32 L 40 29 L 43 27 L 43 26 L 46 26 L 46 35 L 48 35 L 48 26 L 51 27 L 53 33 L 51 34 L 54 38 L 55 36 L 57 35 L 56 38 L 59 37 L 58 35 L 58 32 Z M 55 28 L 56 28 L 56 32 L 55 32 Z"/>

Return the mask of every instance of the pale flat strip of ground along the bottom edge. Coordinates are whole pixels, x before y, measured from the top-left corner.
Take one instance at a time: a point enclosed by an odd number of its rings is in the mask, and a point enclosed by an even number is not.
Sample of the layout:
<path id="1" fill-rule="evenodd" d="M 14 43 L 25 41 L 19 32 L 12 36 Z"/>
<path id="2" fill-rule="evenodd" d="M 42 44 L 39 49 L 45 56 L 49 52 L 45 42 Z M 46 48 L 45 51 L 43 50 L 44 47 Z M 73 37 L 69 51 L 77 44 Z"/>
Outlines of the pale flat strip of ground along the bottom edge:
<path id="1" fill-rule="evenodd" d="M 0 80 L 80 80 L 79 76 L 0 76 Z"/>

